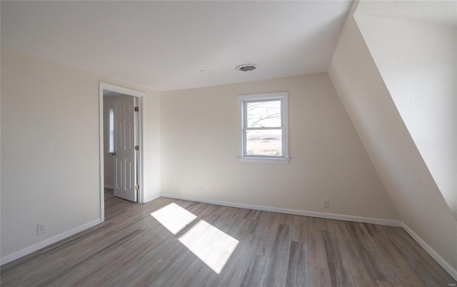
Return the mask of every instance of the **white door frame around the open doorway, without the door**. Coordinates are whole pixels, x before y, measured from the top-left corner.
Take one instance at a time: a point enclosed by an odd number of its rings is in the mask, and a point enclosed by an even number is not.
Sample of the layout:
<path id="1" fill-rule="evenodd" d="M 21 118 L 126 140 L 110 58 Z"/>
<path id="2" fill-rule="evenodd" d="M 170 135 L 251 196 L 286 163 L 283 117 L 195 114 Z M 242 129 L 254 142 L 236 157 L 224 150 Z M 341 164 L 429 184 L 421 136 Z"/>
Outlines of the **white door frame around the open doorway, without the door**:
<path id="1" fill-rule="evenodd" d="M 105 173 L 104 173 L 104 106 L 103 106 L 103 91 L 114 91 L 120 94 L 126 94 L 128 96 L 135 96 L 137 106 L 139 107 L 139 123 L 138 123 L 138 141 L 139 141 L 139 165 L 138 165 L 138 179 L 139 179 L 139 190 L 137 199 L 139 203 L 144 203 L 144 176 L 143 176 L 143 164 L 144 164 L 144 123 L 145 114 L 144 106 L 146 105 L 145 93 L 141 91 L 135 91 L 127 89 L 122 86 L 116 86 L 114 84 L 108 84 L 103 81 L 99 81 L 99 144 L 100 144 L 100 220 L 105 221 Z"/>

